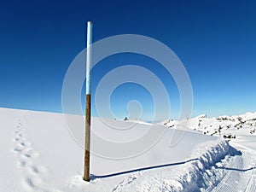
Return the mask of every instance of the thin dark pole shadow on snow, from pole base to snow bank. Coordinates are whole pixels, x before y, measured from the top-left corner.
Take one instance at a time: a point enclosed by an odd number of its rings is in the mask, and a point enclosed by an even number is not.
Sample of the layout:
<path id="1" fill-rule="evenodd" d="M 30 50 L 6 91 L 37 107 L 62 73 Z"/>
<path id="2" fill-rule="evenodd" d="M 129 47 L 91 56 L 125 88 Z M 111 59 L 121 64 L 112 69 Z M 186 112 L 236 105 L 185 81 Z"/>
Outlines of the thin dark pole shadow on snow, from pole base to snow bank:
<path id="1" fill-rule="evenodd" d="M 177 162 L 177 163 L 170 163 L 170 164 L 165 164 L 165 165 L 160 165 L 160 166 L 148 166 L 148 167 L 133 169 L 133 170 L 125 171 L 125 172 L 115 172 L 115 173 L 111 173 L 108 175 L 91 175 L 91 178 L 94 179 L 94 178 L 114 177 L 114 176 L 119 176 L 119 175 L 131 173 L 131 172 L 145 171 L 145 170 L 161 168 L 161 167 L 166 167 L 166 166 L 178 166 L 178 165 L 182 165 L 182 164 L 188 163 L 190 161 L 194 161 L 194 160 L 199 160 L 199 159 L 195 158 L 195 159 L 191 159 L 191 160 L 186 160 L 186 161 Z"/>

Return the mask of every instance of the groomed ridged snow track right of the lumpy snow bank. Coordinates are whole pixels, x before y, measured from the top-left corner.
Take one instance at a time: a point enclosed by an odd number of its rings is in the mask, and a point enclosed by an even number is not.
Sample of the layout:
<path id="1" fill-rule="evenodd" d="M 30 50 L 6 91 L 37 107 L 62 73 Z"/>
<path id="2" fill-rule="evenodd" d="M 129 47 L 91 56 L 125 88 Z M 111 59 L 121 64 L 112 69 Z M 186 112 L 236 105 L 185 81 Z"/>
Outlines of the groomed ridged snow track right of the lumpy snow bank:
<path id="1" fill-rule="evenodd" d="M 222 174 L 223 177 L 217 183 L 214 183 L 212 188 L 208 188 L 207 191 L 256 191 L 255 151 L 239 146 L 236 146 L 236 148 L 241 149 L 241 154 L 231 153 L 222 160 L 222 163 L 216 166 L 214 172 Z M 219 170 L 222 170 L 222 172 Z"/>

